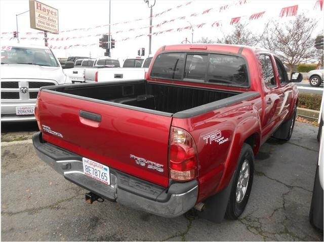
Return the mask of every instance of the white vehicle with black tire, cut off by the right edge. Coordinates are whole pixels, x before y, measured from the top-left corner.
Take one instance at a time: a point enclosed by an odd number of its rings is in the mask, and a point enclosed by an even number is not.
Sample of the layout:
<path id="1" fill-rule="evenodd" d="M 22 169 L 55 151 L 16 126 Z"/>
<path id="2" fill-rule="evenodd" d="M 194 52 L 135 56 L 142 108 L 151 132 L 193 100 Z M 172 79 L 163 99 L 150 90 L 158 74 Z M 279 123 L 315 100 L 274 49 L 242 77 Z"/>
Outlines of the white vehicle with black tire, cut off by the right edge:
<path id="1" fill-rule="evenodd" d="M 320 142 L 318 162 L 316 166 L 314 187 L 312 201 L 310 204 L 309 210 L 309 221 L 310 223 L 318 228 L 323 230 L 323 174 L 324 174 L 324 135 L 322 134 L 323 130 L 323 120 L 324 120 L 324 93 L 322 95 L 322 103 L 320 107 L 319 115 L 319 128 L 317 139 Z"/>

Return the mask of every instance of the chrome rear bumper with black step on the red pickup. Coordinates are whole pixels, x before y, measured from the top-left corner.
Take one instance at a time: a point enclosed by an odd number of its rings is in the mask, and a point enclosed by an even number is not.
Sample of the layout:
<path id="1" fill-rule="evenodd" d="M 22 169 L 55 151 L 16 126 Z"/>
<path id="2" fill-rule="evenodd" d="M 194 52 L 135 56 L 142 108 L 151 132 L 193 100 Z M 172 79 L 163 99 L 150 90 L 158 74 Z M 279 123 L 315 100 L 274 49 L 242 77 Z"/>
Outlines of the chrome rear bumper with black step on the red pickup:
<path id="1" fill-rule="evenodd" d="M 110 185 L 84 174 L 82 156 L 42 140 L 42 133 L 32 137 L 37 155 L 65 179 L 117 203 L 163 217 L 177 217 L 194 207 L 196 180 L 174 183 L 164 188 L 110 168 Z"/>

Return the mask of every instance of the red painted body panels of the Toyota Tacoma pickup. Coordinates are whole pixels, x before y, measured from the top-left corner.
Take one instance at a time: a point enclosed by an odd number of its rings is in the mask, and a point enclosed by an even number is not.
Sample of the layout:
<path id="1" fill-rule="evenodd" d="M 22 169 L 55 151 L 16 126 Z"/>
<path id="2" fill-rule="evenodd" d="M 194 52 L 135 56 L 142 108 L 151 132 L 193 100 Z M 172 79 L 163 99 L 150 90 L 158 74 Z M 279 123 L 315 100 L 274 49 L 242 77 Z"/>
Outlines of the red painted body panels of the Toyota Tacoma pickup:
<path id="1" fill-rule="evenodd" d="M 199 53 L 233 53 L 239 46 L 206 45 Z M 217 86 L 208 83 L 189 83 L 183 80 L 153 79 L 149 77 L 159 49 L 150 64 L 147 80 L 149 82 L 196 86 L 229 91 L 257 91 L 259 96 L 240 101 L 204 114 L 190 118 L 167 117 L 138 110 L 131 110 L 107 104 L 94 103 L 41 92 L 38 97 L 38 113 L 41 124 L 64 137 L 43 133 L 44 140 L 79 155 L 96 160 L 104 165 L 141 179 L 168 187 L 168 149 L 170 127 L 179 127 L 190 133 L 197 148 L 198 157 L 198 199 L 197 203 L 225 188 L 234 173 L 242 144 L 250 136 L 254 137 L 254 153 L 270 137 L 278 126 L 293 114 L 297 103 L 296 85 L 290 83 L 280 86 L 277 69 L 274 68 L 277 87 L 269 89 L 263 83 L 263 73 L 258 55 L 273 54 L 245 47 L 241 55 L 247 60 L 251 87 L 236 88 Z M 190 45 L 167 46 L 164 51 L 194 51 Z M 286 99 L 284 100 L 284 95 Z M 267 104 L 271 100 L 271 104 Z M 284 104 L 282 102 L 285 101 Z M 100 123 L 79 117 L 79 110 L 89 110 L 102 115 Z M 228 141 L 223 144 L 206 144 L 206 134 L 221 131 Z M 129 158 L 133 154 L 163 164 L 165 170 L 159 173 L 136 166 Z"/>

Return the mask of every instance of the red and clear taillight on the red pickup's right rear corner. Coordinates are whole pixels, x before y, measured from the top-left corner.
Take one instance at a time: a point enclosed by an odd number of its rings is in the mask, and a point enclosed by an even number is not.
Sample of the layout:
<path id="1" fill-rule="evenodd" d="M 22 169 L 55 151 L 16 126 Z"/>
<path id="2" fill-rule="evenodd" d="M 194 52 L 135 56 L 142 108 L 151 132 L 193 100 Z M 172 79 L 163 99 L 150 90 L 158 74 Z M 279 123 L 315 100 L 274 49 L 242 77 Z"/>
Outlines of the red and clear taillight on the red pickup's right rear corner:
<path id="1" fill-rule="evenodd" d="M 195 143 L 187 131 L 176 127 L 171 127 L 169 168 L 172 180 L 189 181 L 198 175 Z"/>

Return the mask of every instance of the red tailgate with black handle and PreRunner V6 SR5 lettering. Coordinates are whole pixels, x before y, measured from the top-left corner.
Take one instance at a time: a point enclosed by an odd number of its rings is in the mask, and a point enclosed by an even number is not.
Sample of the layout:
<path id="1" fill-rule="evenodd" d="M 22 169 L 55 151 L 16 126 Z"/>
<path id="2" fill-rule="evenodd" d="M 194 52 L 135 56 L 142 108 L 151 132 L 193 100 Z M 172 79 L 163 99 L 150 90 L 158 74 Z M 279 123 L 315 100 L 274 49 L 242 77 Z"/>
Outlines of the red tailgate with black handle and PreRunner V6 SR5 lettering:
<path id="1" fill-rule="evenodd" d="M 44 140 L 121 172 L 168 186 L 171 116 L 46 90 L 38 97 L 38 113 L 41 125 L 52 133 L 43 130 Z"/>

